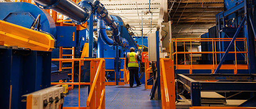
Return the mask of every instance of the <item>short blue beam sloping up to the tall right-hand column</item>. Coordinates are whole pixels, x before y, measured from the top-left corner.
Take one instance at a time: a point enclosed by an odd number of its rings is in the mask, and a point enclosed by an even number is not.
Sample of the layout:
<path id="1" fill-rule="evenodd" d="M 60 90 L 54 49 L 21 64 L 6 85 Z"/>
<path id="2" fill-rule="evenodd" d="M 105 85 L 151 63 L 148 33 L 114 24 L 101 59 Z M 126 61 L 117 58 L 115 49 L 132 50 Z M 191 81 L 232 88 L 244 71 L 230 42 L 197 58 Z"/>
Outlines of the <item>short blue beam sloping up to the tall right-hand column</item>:
<path id="1" fill-rule="evenodd" d="M 239 10 L 241 10 L 242 8 L 244 8 L 244 2 L 241 2 L 240 4 L 237 4 L 236 6 L 230 8 L 227 11 L 224 11 L 222 14 L 219 15 L 219 19 L 225 18 Z"/>

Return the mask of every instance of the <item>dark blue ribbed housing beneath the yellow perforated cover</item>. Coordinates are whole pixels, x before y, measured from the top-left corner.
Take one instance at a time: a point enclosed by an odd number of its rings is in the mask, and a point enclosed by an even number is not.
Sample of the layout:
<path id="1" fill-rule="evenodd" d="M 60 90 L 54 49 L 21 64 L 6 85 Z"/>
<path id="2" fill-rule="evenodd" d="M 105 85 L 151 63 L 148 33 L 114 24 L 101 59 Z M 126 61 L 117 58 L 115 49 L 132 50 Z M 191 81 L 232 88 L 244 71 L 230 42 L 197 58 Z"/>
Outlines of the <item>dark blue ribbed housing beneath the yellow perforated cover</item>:
<path id="1" fill-rule="evenodd" d="M 1 108 L 26 109 L 21 96 L 50 87 L 52 52 L 0 49 L 0 83 L 4 87 L 0 99 Z M 16 52 L 16 53 L 15 53 Z M 11 102 L 10 102 L 11 101 Z"/>

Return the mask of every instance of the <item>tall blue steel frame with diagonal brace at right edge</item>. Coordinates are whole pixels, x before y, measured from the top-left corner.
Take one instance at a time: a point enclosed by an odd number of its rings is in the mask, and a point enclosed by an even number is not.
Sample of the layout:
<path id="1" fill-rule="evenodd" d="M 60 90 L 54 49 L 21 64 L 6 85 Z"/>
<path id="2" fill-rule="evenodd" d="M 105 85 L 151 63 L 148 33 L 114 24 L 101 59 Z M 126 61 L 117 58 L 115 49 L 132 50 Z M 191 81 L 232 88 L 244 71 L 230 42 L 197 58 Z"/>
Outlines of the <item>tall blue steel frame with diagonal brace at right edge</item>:
<path id="1" fill-rule="evenodd" d="M 241 22 L 239 28 L 237 29 L 232 41 L 230 42 L 225 54 L 223 54 L 223 57 L 221 58 L 221 61 L 216 68 L 214 74 L 217 74 L 219 71 L 219 68 L 221 67 L 223 61 L 225 60 L 225 57 L 227 56 L 227 53 L 229 52 L 231 45 L 233 45 L 239 31 L 241 28 L 244 28 L 244 37 L 246 37 L 246 42 L 247 42 L 247 51 L 248 51 L 248 73 L 253 74 L 256 72 L 255 70 L 255 42 L 254 38 L 256 37 L 255 33 L 255 26 L 254 22 L 252 20 L 252 1 L 246 1 L 244 0 L 243 2 L 237 4 L 236 6 L 232 7 L 231 9 L 228 9 L 227 11 L 222 11 L 219 13 L 218 17 L 216 17 L 216 20 L 218 20 L 218 27 L 220 32 L 225 32 L 221 30 L 221 19 L 225 20 L 225 18 L 233 13 L 237 13 L 239 10 L 244 9 L 244 18 L 243 21 Z M 218 19 L 217 19 L 218 18 Z M 223 26 L 225 26 L 225 22 L 223 22 Z M 220 36 L 219 32 L 219 36 Z"/>

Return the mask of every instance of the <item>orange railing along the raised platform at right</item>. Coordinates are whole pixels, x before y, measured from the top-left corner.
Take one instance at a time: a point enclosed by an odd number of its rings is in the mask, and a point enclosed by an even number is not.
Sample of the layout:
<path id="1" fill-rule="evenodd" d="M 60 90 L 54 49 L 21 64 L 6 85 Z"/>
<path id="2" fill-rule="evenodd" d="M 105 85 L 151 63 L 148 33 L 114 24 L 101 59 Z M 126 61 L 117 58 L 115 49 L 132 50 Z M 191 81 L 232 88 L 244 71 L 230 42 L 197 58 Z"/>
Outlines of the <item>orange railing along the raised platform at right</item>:
<path id="1" fill-rule="evenodd" d="M 173 42 L 175 42 L 175 52 L 172 50 L 172 57 L 174 55 L 176 55 L 176 69 L 189 69 L 189 73 L 192 74 L 192 69 L 196 69 L 194 67 L 196 67 L 196 65 L 192 65 L 192 54 L 212 54 L 212 59 L 213 59 L 213 63 L 212 63 L 212 73 L 214 73 L 214 69 L 216 69 L 216 65 L 217 65 L 217 55 L 216 54 L 224 54 L 225 52 L 216 52 L 216 42 L 222 42 L 222 41 L 231 41 L 232 38 L 192 38 L 192 39 L 187 39 L 187 38 L 179 38 L 179 39 L 172 39 L 172 44 Z M 236 41 L 246 41 L 246 38 L 236 38 L 234 44 L 235 44 L 235 52 L 228 52 L 229 54 L 235 54 L 235 65 L 229 65 L 232 66 L 232 68 L 234 69 L 234 74 L 237 74 L 237 69 L 239 69 L 239 67 L 241 67 L 241 65 L 237 65 L 237 54 L 247 54 L 246 52 L 237 52 L 237 47 L 236 47 Z M 177 42 L 183 42 L 184 43 L 184 52 L 177 52 Z M 209 52 L 192 52 L 192 48 L 190 52 L 185 52 L 185 42 L 190 42 L 190 46 L 192 46 L 192 42 L 212 42 L 212 51 Z M 247 44 L 246 44 L 246 48 L 247 48 Z M 177 59 L 177 54 L 184 54 L 184 65 L 178 65 L 178 59 Z M 190 54 L 190 60 L 191 64 L 190 64 L 190 68 L 188 68 L 189 65 L 186 65 L 186 54 Z M 214 59 L 215 57 L 215 59 Z M 199 57 L 200 59 L 200 57 Z M 217 65 L 218 66 L 218 65 Z M 224 66 L 224 65 L 222 65 Z M 244 65 L 242 65 L 243 67 L 245 67 Z M 235 67 L 235 68 L 234 68 Z M 223 67 L 222 67 L 223 68 Z M 227 68 L 227 67 L 226 67 Z M 246 65 L 246 68 L 248 69 L 248 65 Z M 228 68 L 230 69 L 230 68 Z"/>

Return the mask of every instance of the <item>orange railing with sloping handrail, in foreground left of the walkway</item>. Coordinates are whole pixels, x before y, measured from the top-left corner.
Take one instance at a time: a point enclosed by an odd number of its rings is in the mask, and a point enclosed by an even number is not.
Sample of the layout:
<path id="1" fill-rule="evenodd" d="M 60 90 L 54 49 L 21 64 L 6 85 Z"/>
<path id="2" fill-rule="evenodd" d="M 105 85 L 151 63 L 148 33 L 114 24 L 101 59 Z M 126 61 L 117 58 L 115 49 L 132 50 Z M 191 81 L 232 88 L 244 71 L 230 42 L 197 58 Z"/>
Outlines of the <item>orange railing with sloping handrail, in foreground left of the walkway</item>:
<path id="1" fill-rule="evenodd" d="M 63 107 L 63 109 L 105 109 L 105 60 L 102 58 L 96 59 L 52 59 L 52 61 L 90 61 L 90 83 L 81 83 L 81 67 L 79 67 L 79 82 L 78 83 L 51 83 L 51 85 L 67 84 L 79 85 L 78 87 L 78 107 Z M 99 63 L 98 63 L 99 62 Z M 97 70 L 96 70 L 97 69 Z M 90 92 L 87 98 L 87 107 L 80 107 L 80 85 L 90 85 Z M 96 87 L 98 86 L 98 87 Z M 96 98 L 95 98 L 96 94 Z M 95 104 L 96 102 L 96 104 Z"/>

